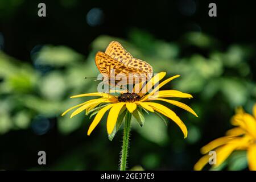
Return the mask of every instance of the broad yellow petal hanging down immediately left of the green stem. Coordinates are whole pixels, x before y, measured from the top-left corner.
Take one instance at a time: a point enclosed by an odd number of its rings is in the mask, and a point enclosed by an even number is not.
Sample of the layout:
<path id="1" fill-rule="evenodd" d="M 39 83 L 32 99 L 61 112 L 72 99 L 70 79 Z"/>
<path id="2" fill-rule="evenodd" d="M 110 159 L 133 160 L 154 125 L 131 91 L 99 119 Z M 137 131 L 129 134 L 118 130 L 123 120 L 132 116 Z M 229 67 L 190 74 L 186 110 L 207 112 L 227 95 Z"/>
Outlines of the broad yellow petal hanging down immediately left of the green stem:
<path id="1" fill-rule="evenodd" d="M 122 109 L 123 105 L 125 105 L 125 102 L 119 102 L 117 104 L 114 104 L 113 107 L 110 109 L 108 120 L 107 120 L 108 134 L 111 134 L 112 131 L 114 130 L 115 123 L 117 122 L 118 114 Z"/>

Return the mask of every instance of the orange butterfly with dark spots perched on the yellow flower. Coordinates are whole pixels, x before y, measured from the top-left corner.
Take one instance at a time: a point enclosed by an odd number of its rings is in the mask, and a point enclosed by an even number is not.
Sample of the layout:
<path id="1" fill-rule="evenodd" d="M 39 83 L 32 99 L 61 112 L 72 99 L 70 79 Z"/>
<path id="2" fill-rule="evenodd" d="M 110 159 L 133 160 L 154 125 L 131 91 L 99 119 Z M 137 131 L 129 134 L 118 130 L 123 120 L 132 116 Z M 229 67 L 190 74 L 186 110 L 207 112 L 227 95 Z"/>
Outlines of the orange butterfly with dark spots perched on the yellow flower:
<path id="1" fill-rule="evenodd" d="M 97 52 L 95 64 L 109 83 L 113 76 L 115 84 L 125 76 L 127 81 L 136 84 L 147 81 L 153 74 L 150 64 L 131 56 L 117 41 L 110 42 L 105 52 Z"/>

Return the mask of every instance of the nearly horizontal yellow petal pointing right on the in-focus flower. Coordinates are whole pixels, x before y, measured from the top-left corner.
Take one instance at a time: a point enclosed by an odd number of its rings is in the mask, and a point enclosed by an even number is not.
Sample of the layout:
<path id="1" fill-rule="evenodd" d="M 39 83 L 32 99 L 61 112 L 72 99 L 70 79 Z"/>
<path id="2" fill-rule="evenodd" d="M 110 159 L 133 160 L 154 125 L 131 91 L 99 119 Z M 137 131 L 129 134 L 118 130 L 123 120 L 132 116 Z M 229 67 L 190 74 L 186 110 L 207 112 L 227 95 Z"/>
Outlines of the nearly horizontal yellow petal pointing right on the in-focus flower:
<path id="1" fill-rule="evenodd" d="M 160 90 L 159 92 L 155 92 L 154 95 L 150 96 L 148 100 L 164 97 L 192 98 L 191 94 L 183 93 L 178 90 Z"/>

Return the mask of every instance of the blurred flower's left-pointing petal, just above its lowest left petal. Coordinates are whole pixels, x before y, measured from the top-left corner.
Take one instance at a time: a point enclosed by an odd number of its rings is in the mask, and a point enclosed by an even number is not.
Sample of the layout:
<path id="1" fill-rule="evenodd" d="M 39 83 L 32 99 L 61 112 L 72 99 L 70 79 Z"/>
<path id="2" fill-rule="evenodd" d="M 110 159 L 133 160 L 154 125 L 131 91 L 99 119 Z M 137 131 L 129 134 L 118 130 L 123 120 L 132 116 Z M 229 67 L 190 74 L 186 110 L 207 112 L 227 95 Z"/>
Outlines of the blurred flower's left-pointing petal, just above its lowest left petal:
<path id="1" fill-rule="evenodd" d="M 221 137 L 213 140 L 212 142 L 208 143 L 204 147 L 201 148 L 202 154 L 207 154 L 209 151 L 213 150 L 214 148 L 217 148 L 219 146 L 222 146 L 223 144 L 228 143 L 230 140 L 234 139 L 234 137 Z"/>

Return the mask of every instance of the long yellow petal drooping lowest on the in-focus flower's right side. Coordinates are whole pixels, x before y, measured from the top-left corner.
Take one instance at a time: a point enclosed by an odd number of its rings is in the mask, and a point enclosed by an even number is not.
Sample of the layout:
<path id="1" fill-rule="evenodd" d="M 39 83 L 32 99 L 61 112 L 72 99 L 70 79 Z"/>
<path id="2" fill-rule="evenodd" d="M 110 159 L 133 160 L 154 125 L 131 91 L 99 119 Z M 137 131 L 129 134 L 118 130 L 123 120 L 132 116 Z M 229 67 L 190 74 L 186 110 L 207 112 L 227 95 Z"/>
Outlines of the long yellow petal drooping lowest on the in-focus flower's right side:
<path id="1" fill-rule="evenodd" d="M 153 107 L 154 110 L 156 110 L 159 113 L 165 115 L 166 117 L 172 119 L 172 121 L 174 121 L 180 127 L 181 131 L 184 134 L 184 138 L 187 137 L 187 135 L 188 135 L 187 127 L 184 125 L 184 123 L 181 121 L 181 119 L 179 117 L 177 117 L 177 115 L 174 113 L 174 111 L 172 111 L 171 109 L 168 109 L 168 107 L 166 107 L 166 106 L 163 106 L 161 104 L 154 103 L 154 102 L 144 102 L 144 104 L 147 104 L 147 105 Z"/>

